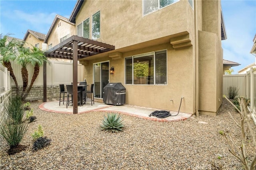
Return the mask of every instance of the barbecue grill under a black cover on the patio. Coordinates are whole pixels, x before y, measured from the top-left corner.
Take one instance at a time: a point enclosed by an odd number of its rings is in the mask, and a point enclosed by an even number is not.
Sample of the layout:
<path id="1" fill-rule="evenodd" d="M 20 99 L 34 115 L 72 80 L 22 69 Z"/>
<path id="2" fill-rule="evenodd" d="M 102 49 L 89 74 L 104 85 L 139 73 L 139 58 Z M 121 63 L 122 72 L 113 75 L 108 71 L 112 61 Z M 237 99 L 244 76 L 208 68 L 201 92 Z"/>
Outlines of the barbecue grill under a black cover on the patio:
<path id="1" fill-rule="evenodd" d="M 125 104 L 126 89 L 122 83 L 108 83 L 103 88 L 103 102 L 105 104 Z"/>

